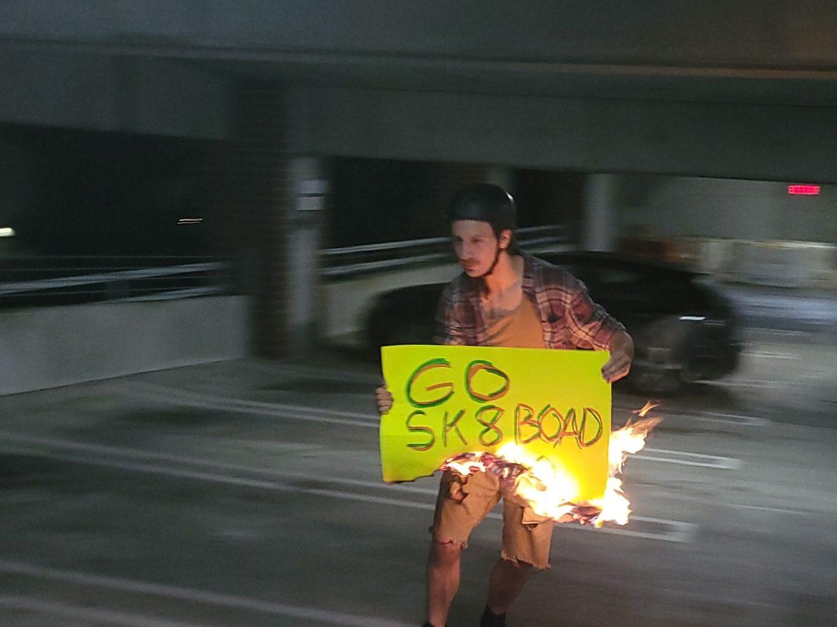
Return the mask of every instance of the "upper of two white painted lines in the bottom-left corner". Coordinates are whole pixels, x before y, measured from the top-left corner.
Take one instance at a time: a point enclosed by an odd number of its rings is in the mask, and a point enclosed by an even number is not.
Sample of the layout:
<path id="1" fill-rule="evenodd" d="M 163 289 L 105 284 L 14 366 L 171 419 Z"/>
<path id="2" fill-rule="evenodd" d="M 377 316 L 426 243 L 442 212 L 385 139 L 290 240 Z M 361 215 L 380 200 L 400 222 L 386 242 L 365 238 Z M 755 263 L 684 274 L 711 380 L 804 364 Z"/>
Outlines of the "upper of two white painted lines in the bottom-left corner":
<path id="1" fill-rule="evenodd" d="M 38 579 L 53 579 L 54 581 L 119 590 L 121 592 L 152 594 L 166 597 L 167 599 L 245 609 L 253 612 L 261 612 L 262 614 L 285 616 L 292 619 L 317 620 L 327 624 L 351 625 L 352 627 L 409 627 L 411 625 L 394 620 L 380 619 L 374 616 L 343 614 L 325 609 L 286 605 L 273 601 L 234 596 L 232 594 L 218 594 L 204 590 L 179 588 L 177 586 L 150 584 L 143 581 L 136 581 L 135 579 L 121 579 L 97 574 L 77 573 L 69 570 L 59 570 L 58 568 L 46 568 L 34 564 L 8 562 L 5 560 L 0 560 L 0 573 L 26 575 Z"/>

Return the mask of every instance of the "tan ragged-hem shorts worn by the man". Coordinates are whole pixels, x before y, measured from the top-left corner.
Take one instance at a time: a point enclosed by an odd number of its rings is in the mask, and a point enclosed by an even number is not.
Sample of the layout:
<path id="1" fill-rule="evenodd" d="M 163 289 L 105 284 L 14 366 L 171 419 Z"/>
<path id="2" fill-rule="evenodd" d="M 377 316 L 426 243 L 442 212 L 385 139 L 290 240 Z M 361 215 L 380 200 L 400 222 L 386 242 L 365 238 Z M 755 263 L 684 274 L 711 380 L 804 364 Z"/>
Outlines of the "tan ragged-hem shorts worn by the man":
<path id="1" fill-rule="evenodd" d="M 476 472 L 460 477 L 445 472 L 439 485 L 433 527 L 430 533 L 437 542 L 468 546 L 471 530 L 504 497 L 497 477 Z M 535 568 L 549 568 L 549 545 L 555 523 L 538 516 L 530 507 L 522 507 L 503 499 L 503 543 L 501 557 L 510 562 L 523 562 Z"/>

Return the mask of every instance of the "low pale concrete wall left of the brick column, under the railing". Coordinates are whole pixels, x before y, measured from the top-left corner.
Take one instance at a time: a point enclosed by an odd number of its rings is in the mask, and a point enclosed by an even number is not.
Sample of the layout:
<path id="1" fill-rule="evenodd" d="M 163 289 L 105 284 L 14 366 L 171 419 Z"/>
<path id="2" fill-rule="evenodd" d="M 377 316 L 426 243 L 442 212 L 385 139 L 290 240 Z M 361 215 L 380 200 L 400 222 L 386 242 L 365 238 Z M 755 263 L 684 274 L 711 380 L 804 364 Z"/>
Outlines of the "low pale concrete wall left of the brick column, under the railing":
<path id="1" fill-rule="evenodd" d="M 0 312 L 0 394 L 244 357 L 248 309 L 224 296 Z"/>

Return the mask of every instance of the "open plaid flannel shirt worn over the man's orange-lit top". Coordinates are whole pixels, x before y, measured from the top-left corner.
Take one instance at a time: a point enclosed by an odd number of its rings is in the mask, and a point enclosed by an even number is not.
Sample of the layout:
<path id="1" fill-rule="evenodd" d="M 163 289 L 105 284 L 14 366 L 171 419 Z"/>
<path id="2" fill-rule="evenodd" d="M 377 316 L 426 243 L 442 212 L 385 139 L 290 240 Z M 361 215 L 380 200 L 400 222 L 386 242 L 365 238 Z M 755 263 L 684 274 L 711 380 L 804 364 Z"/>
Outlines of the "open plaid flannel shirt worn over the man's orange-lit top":
<path id="1" fill-rule="evenodd" d="M 524 254 L 523 295 L 541 319 L 549 349 L 608 349 L 624 325 L 593 303 L 584 283 L 552 263 Z M 477 280 L 465 273 L 444 288 L 436 315 L 436 344 L 485 346 L 488 332 Z"/>

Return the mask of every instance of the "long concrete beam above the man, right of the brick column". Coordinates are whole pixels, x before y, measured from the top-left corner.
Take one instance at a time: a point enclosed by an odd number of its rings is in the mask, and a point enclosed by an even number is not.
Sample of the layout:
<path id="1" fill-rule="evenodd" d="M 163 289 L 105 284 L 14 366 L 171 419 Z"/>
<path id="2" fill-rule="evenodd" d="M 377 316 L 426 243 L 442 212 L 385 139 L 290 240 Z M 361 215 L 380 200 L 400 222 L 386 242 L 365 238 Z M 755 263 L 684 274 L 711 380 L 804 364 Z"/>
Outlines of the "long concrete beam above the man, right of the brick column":
<path id="1" fill-rule="evenodd" d="M 305 101 L 314 154 L 837 182 L 834 108 L 323 88 Z"/>

